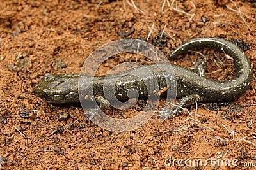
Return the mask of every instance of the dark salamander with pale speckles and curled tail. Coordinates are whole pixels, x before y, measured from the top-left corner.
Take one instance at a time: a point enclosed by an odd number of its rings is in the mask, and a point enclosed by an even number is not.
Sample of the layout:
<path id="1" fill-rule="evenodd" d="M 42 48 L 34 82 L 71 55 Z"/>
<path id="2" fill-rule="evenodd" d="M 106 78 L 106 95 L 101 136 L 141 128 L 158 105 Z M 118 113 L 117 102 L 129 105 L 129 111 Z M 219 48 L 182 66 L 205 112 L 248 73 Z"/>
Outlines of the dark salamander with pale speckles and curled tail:
<path id="1" fill-rule="evenodd" d="M 204 62 L 198 65 L 196 71 L 172 64 L 177 81 L 177 87 L 173 88 L 177 88 L 177 97 L 180 99 L 177 105 L 182 108 L 191 106 L 196 102 L 232 101 L 241 96 L 250 87 L 252 81 L 250 60 L 246 57 L 243 50 L 231 41 L 209 37 L 190 39 L 173 50 L 168 59 L 175 59 L 178 55 L 188 52 L 188 50 L 202 48 L 224 52 L 232 57 L 236 73 L 230 80 L 217 81 L 205 76 Z M 108 90 L 108 86 L 113 84 L 113 79 L 118 78 L 118 81 L 115 83 L 115 92 L 110 97 L 116 97 L 120 101 L 125 101 L 129 99 L 127 95 L 128 90 L 133 88 L 138 92 L 138 98 L 147 98 L 147 96 L 155 95 L 154 90 L 156 92 L 157 90 L 163 90 L 164 87 L 168 87 L 166 78 L 172 80 L 172 75 L 168 75 L 168 72 L 163 71 L 164 68 L 169 68 L 168 66 L 170 65 L 168 64 L 170 63 L 148 64 L 144 66 L 152 72 L 151 75 L 145 74 L 143 67 L 140 66 L 128 71 L 109 74 L 108 76 L 95 77 L 85 74 L 52 75 L 48 73 L 45 75 L 44 80 L 36 86 L 35 94 L 48 103 L 79 103 L 78 81 L 82 80 L 83 85 L 80 90 L 83 92 L 84 99 L 96 99 L 102 110 L 104 110 L 104 108 L 109 106 L 109 101 L 104 96 L 104 90 Z M 159 69 L 159 66 L 161 66 L 161 69 Z M 140 78 L 130 75 L 132 71 L 140 73 Z M 157 83 L 153 82 L 153 80 L 156 80 Z M 147 89 L 148 87 L 150 90 Z M 88 91 L 92 89 L 93 94 L 88 95 Z M 166 93 L 162 95 L 164 96 Z M 168 113 L 168 118 L 180 115 L 182 111 L 178 106 Z"/>

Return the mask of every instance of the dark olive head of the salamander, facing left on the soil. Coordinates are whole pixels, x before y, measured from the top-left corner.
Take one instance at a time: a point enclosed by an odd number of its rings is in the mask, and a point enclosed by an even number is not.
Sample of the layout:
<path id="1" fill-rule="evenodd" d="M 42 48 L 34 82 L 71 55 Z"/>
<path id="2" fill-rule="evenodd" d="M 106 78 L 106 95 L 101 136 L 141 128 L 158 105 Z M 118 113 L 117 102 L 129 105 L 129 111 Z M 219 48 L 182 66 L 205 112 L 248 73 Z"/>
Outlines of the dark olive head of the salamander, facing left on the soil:
<path id="1" fill-rule="evenodd" d="M 78 103 L 79 74 L 45 74 L 44 80 L 36 86 L 36 96 L 48 103 Z"/>

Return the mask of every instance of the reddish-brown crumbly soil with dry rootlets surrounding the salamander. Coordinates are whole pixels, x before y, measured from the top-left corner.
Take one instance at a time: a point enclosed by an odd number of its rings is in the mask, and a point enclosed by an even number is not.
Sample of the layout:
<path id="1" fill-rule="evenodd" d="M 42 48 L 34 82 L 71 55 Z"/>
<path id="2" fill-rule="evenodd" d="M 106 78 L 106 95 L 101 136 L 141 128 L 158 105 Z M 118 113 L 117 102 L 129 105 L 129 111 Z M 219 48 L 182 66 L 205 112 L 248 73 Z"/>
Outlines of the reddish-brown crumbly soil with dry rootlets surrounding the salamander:
<path id="1" fill-rule="evenodd" d="M 0 10 L 0 169 L 256 169 L 255 2 L 2 0 Z M 86 57 L 111 41 L 143 39 L 168 55 L 203 36 L 236 39 L 246 50 L 252 87 L 236 101 L 193 105 L 191 115 L 152 117 L 133 131 L 111 132 L 81 107 L 54 106 L 33 93 L 45 73 L 80 73 Z M 191 55 L 175 63 L 190 67 L 198 57 Z M 209 53 L 207 76 L 225 80 L 232 66 L 218 59 Z M 147 63 L 134 55 L 125 60 Z M 112 57 L 100 73 L 125 60 Z M 140 103 L 119 116 L 138 113 Z M 194 166 L 196 159 L 203 165 Z M 205 166 L 207 159 L 212 164 Z"/>

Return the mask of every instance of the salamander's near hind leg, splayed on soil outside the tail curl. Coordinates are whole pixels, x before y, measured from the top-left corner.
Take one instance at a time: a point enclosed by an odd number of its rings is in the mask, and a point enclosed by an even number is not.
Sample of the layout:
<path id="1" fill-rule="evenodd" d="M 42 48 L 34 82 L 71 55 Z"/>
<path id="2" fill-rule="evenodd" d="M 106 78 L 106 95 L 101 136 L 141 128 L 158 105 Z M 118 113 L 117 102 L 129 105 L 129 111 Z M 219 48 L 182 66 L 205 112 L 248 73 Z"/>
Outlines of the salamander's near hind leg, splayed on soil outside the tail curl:
<path id="1" fill-rule="evenodd" d="M 189 96 L 182 97 L 177 105 L 172 106 L 170 110 L 164 109 L 163 111 L 159 111 L 160 117 L 167 119 L 177 117 L 182 114 L 182 109 L 195 104 L 200 101 L 201 97 L 198 94 L 191 94 Z"/>

